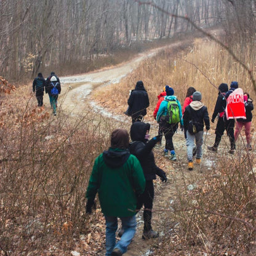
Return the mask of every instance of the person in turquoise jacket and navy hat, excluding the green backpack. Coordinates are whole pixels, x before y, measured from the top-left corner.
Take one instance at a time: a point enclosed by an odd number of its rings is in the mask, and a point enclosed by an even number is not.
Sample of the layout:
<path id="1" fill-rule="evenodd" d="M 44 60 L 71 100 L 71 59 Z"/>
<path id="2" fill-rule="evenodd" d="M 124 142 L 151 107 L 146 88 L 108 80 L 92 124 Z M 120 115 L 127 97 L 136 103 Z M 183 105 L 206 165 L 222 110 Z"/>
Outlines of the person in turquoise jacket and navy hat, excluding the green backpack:
<path id="1" fill-rule="evenodd" d="M 166 97 L 159 106 L 158 114 L 156 115 L 156 121 L 159 122 L 161 120 L 162 122 L 164 122 L 164 127 L 162 129 L 162 131 L 164 132 L 164 137 L 166 138 L 166 148 L 164 148 L 164 156 L 169 157 L 169 159 L 172 161 L 176 161 L 177 158 L 174 150 L 174 143 L 172 142 L 172 137 L 178 129 L 178 122 L 175 124 L 169 124 L 169 122 L 166 121 L 167 105 L 169 100 L 175 100 L 177 102 L 180 115 L 180 128 L 183 130 L 182 106 L 180 105 L 177 97 L 174 95 L 174 89 L 172 89 L 172 87 L 166 86 Z"/>

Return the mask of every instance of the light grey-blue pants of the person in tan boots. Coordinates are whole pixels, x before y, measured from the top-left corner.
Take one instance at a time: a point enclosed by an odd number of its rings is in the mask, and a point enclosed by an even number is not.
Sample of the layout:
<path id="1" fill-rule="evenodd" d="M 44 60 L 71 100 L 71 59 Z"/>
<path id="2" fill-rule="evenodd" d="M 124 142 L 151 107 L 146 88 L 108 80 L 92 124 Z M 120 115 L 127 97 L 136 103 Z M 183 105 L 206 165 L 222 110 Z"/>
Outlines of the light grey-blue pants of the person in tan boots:
<path id="1" fill-rule="evenodd" d="M 202 143 L 203 143 L 204 131 L 201 130 L 196 134 L 190 134 L 188 130 L 186 131 L 186 154 L 188 162 L 193 162 L 193 148 L 194 148 L 194 139 L 196 139 L 196 158 L 199 159 L 202 157 Z"/>

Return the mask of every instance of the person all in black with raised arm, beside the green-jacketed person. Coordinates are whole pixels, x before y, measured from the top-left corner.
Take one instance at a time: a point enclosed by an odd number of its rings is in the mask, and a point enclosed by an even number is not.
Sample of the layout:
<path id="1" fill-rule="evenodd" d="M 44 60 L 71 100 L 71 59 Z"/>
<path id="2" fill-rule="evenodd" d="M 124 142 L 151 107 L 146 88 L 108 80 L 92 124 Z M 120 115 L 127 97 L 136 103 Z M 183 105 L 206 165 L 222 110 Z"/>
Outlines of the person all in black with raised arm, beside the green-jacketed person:
<path id="1" fill-rule="evenodd" d="M 129 145 L 131 154 L 134 154 L 142 165 L 143 173 L 146 179 L 144 193 L 138 198 L 137 210 L 144 206 L 143 210 L 143 239 L 158 238 L 159 233 L 154 231 L 151 226 L 152 208 L 154 199 L 154 183 L 158 175 L 162 182 L 167 182 L 166 173 L 156 166 L 154 161 L 153 147 L 159 142 L 159 135 L 149 140 L 150 124 L 145 122 L 134 122 L 130 127 L 130 138 L 132 142 Z"/>

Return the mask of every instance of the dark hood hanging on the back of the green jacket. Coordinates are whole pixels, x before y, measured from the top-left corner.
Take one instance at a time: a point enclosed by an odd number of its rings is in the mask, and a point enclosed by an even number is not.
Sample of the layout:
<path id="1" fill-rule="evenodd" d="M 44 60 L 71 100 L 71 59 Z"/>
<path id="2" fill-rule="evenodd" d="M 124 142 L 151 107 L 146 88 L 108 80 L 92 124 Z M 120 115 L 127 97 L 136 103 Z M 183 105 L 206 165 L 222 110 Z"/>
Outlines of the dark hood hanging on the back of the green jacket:
<path id="1" fill-rule="evenodd" d="M 109 148 L 108 151 L 103 152 L 104 162 L 106 166 L 111 168 L 119 168 L 123 166 L 129 156 L 129 150 L 122 150 L 120 148 Z"/>

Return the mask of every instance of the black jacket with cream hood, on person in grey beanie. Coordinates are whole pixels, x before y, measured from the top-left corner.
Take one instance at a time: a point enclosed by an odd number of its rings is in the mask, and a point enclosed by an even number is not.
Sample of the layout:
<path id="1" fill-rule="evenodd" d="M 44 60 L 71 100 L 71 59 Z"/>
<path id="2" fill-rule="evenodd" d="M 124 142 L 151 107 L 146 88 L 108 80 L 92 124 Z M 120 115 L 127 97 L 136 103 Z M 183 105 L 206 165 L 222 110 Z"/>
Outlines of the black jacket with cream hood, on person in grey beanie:
<path id="1" fill-rule="evenodd" d="M 206 106 L 201 102 L 198 102 L 198 105 L 195 108 L 193 103 L 196 105 L 195 102 L 191 102 L 190 105 L 185 108 L 185 112 L 183 114 L 184 129 L 188 130 L 188 122 L 193 120 L 196 123 L 197 132 L 204 130 L 204 124 L 206 124 L 206 130 L 209 130 L 210 120 Z"/>

